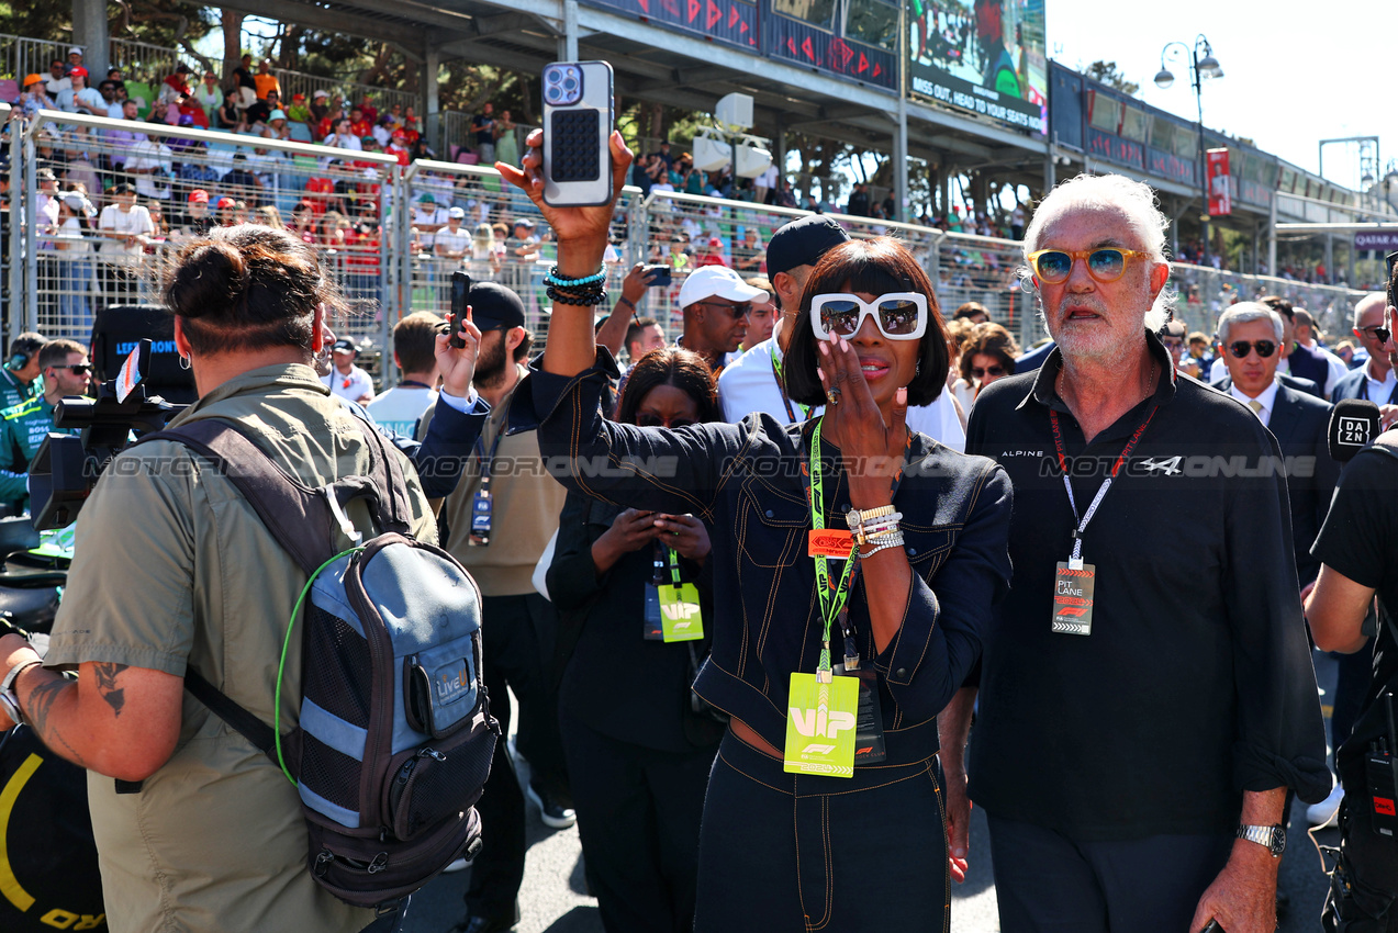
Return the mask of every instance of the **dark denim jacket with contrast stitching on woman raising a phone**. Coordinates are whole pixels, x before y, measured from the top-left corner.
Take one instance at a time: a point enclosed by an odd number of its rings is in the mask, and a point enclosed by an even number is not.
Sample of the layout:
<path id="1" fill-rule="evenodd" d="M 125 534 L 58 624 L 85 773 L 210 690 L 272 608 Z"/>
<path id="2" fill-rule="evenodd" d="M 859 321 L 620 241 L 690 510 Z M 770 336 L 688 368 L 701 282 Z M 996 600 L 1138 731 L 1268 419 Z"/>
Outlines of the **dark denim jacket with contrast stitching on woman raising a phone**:
<path id="1" fill-rule="evenodd" d="M 514 392 L 512 430 L 537 425 L 549 471 L 570 490 L 635 508 L 692 513 L 710 524 L 713 651 L 695 690 L 780 749 L 790 675 L 815 672 L 822 637 L 801 469 L 809 422 L 783 426 L 755 413 L 738 425 L 678 430 L 619 425 L 598 412 L 608 377 L 617 377 L 617 366 L 604 349 L 573 377 L 535 363 Z M 836 448 L 822 447 L 828 527 L 843 528 L 847 483 Z M 1009 580 L 1005 472 L 924 434 L 913 434 L 907 457 L 893 504 L 903 513 L 914 574 L 907 615 L 882 652 L 874 651 L 863 581 L 849 602 L 860 654 L 878 672 L 888 750 L 881 767 L 937 753 L 937 714 L 980 658 L 991 605 Z M 836 659 L 842 644 L 836 629 Z"/>

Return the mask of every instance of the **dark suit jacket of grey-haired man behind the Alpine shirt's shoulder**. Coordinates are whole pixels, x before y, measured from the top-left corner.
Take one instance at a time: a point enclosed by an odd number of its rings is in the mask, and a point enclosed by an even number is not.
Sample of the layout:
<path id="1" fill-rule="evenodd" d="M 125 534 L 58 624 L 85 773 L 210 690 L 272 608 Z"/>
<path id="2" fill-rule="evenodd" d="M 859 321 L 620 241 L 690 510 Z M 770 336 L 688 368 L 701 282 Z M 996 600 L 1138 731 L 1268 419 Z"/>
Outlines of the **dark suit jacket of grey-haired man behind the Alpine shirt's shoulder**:
<path id="1" fill-rule="evenodd" d="M 1225 392 L 1230 385 L 1227 379 L 1215 383 L 1215 388 Z M 1290 387 L 1283 377 L 1267 425 L 1286 458 L 1292 543 L 1296 548 L 1296 575 L 1303 587 L 1320 573 L 1320 561 L 1311 557 L 1310 548 L 1316 543 L 1339 480 L 1341 465 L 1329 455 L 1327 444 L 1329 409 L 1328 402 Z"/>

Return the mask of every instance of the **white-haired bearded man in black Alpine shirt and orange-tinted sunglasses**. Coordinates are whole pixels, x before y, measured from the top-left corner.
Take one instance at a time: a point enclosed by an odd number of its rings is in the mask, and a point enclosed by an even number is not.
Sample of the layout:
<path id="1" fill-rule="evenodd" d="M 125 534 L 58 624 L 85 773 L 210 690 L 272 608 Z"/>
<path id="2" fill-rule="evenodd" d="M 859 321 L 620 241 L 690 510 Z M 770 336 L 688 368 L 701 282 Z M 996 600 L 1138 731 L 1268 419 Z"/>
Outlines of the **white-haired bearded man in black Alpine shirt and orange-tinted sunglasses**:
<path id="1" fill-rule="evenodd" d="M 1050 193 L 1023 250 L 1055 349 L 972 409 L 966 451 L 1016 487 L 1015 573 L 942 761 L 952 874 L 969 792 L 1005 933 L 1272 933 L 1286 791 L 1329 791 L 1281 451 L 1176 377 L 1167 225 L 1121 176 Z"/>

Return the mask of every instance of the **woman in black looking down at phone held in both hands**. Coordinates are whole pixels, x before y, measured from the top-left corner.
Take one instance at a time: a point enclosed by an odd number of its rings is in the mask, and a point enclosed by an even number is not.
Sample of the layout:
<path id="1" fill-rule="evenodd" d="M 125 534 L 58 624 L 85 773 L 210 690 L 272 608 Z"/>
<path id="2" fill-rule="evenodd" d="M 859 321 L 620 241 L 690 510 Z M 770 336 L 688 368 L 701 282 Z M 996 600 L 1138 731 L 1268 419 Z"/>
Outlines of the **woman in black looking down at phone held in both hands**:
<path id="1" fill-rule="evenodd" d="M 717 385 L 698 353 L 657 349 L 626 381 L 617 419 L 684 427 L 721 420 Z M 699 817 L 723 725 L 691 691 L 714 624 L 709 532 L 663 515 L 568 494 L 548 594 L 561 640 L 577 638 L 559 687 L 563 751 L 587 876 L 603 926 L 689 930 Z M 692 641 L 663 634 L 661 587 L 696 584 Z"/>

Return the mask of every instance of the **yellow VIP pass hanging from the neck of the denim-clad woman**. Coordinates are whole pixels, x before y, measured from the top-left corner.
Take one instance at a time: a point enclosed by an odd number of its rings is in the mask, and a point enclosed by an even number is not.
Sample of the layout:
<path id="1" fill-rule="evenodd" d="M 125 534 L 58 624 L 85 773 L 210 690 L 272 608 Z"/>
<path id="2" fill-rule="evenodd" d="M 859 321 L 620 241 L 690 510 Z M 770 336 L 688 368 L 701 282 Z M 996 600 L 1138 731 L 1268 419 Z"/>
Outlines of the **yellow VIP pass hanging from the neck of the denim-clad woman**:
<path id="1" fill-rule="evenodd" d="M 853 778 L 858 677 L 822 682 L 814 673 L 793 673 L 787 707 L 783 771 Z"/>

